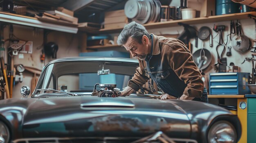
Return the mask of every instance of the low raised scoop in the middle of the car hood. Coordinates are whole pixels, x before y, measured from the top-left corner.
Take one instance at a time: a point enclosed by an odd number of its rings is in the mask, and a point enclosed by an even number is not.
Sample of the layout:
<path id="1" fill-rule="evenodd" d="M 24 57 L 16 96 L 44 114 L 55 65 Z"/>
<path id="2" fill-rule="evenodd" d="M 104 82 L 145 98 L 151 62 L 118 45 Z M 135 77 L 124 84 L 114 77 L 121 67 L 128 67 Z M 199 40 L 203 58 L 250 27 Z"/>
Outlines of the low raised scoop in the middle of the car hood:
<path id="1" fill-rule="evenodd" d="M 81 108 L 134 108 L 135 105 L 130 100 L 111 100 L 111 99 L 101 99 L 94 102 L 81 103 Z"/>

